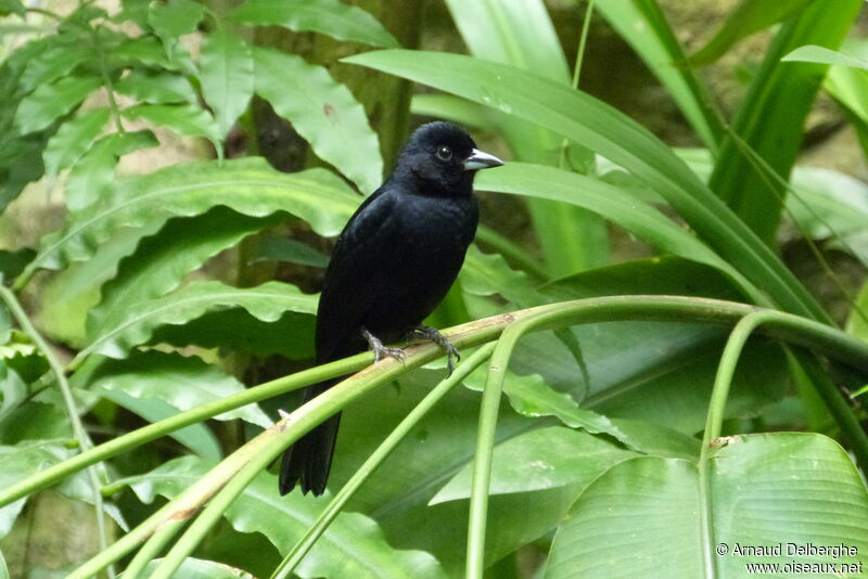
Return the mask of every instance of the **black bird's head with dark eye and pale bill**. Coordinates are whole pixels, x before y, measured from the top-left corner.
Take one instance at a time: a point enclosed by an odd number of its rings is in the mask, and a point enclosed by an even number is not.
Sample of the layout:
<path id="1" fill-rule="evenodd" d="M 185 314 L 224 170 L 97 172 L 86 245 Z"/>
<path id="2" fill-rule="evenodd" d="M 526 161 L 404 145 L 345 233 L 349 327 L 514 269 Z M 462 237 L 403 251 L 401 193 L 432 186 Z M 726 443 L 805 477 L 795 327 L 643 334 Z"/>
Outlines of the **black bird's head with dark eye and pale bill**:
<path id="1" fill-rule="evenodd" d="M 473 176 L 480 169 L 499 167 L 503 162 L 476 149 L 461 127 L 435 121 L 422 125 L 404 145 L 395 172 L 411 177 L 424 193 L 471 193 Z"/>

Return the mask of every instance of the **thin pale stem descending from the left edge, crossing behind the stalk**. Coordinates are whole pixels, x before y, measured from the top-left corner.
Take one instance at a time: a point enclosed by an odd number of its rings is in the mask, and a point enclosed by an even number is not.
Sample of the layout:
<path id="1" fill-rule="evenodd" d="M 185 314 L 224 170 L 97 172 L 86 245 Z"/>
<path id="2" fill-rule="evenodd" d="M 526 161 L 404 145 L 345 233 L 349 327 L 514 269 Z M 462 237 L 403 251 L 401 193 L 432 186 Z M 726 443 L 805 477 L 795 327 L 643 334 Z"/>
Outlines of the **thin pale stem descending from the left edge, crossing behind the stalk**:
<path id="1" fill-rule="evenodd" d="M 30 319 L 27 317 L 24 308 L 18 303 L 15 294 L 4 285 L 0 285 L 0 299 L 5 303 L 9 311 L 15 317 L 15 320 L 17 320 L 24 333 L 30 336 L 30 339 L 34 340 L 37 349 L 39 349 L 39 351 L 48 361 L 51 373 L 54 375 L 54 379 L 58 381 L 58 386 L 60 387 L 61 396 L 63 398 L 63 404 L 66 408 L 66 415 L 69 419 L 69 424 L 73 427 L 73 435 L 78 442 L 79 450 L 82 452 L 90 450 L 93 447 L 93 442 L 90 440 L 87 430 L 85 430 L 85 426 L 81 424 L 81 416 L 78 414 L 78 407 L 75 403 L 73 390 L 69 387 L 69 382 L 66 379 L 66 373 L 63 370 L 63 365 L 54 356 L 54 352 L 51 350 L 51 347 L 48 345 L 44 338 L 42 338 L 42 335 L 30 322 Z M 100 487 L 102 484 L 100 483 L 100 477 L 95 467 L 88 468 L 87 476 L 88 483 L 90 484 L 91 496 L 93 498 L 93 509 L 97 517 L 97 532 L 100 541 L 100 550 L 104 550 L 108 546 L 108 536 L 105 529 L 105 505 L 103 504 L 102 493 L 100 492 Z M 114 577 L 114 569 L 110 568 L 108 575 Z"/>

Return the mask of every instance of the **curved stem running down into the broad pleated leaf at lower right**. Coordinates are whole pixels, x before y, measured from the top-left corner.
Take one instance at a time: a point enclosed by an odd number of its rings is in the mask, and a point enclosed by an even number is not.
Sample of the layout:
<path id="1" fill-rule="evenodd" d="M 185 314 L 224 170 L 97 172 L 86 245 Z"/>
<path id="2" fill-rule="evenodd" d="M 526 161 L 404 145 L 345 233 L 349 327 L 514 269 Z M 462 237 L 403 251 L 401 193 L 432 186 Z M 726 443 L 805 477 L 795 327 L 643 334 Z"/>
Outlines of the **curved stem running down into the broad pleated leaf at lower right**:
<path id="1" fill-rule="evenodd" d="M 762 324 L 773 322 L 774 316 L 768 311 L 749 313 L 736 324 L 720 356 L 717 374 L 714 377 L 712 399 L 709 403 L 709 415 L 705 420 L 705 434 L 702 437 L 702 448 L 699 456 L 700 483 L 700 520 L 702 525 L 702 553 L 705 577 L 717 577 L 715 563 L 712 556 L 715 546 L 714 529 L 711 517 L 711 454 L 715 450 L 716 441 L 720 436 L 720 426 L 724 423 L 726 401 L 729 398 L 729 387 L 736 373 L 741 351 L 753 332 Z"/>

